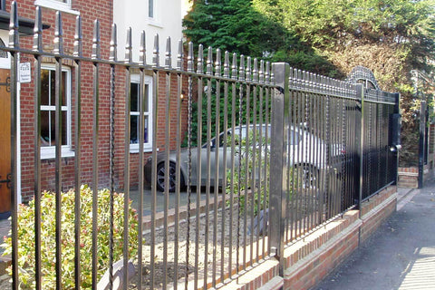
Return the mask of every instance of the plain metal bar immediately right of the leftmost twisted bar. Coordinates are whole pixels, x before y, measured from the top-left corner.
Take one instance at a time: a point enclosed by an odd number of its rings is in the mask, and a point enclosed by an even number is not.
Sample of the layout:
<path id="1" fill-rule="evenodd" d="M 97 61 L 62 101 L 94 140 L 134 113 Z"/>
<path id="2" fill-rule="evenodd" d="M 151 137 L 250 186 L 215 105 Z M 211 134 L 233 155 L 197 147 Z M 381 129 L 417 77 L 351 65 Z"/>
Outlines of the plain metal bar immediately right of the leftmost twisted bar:
<path id="1" fill-rule="evenodd" d="M 128 65 L 125 67 L 125 119 L 124 119 L 124 232 L 123 232 L 123 273 L 125 277 L 124 290 L 128 289 L 129 280 L 129 200 L 130 200 L 130 136 L 131 136 L 131 63 L 132 63 L 132 45 L 131 45 L 131 27 L 127 30 L 127 40 L 125 44 L 124 62 Z M 152 260 L 152 259 L 151 259 Z"/>

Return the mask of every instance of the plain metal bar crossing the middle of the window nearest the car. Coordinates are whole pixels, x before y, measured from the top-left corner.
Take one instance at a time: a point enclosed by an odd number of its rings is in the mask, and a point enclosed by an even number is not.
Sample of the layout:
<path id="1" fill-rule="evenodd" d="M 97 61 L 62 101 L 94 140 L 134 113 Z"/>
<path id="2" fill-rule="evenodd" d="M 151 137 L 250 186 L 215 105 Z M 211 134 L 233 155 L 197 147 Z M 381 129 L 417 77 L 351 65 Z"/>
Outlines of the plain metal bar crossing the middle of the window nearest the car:
<path id="1" fill-rule="evenodd" d="M 145 88 L 143 67 L 147 64 L 145 31 L 140 33 L 140 85 L 139 85 L 139 223 L 138 223 L 138 289 L 142 288 L 142 215 L 143 215 L 143 147 L 145 143 L 145 98 L 148 101 L 148 90 Z"/>

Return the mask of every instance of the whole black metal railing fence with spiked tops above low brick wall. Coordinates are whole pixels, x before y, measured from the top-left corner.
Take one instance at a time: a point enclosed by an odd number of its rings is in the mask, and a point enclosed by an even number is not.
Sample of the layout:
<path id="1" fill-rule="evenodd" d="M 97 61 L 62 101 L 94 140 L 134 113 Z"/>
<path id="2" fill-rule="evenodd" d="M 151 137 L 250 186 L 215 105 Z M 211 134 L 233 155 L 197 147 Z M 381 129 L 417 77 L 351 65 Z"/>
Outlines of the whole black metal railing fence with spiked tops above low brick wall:
<path id="1" fill-rule="evenodd" d="M 167 41 L 165 63 L 160 65 L 159 37 L 154 38 L 153 63 L 145 62 L 140 50 L 140 62 L 131 58 L 131 32 L 126 57 L 116 56 L 116 26 L 113 26 L 111 55 L 101 58 L 99 24 L 95 23 L 92 55 L 82 53 L 82 27 L 77 18 L 73 54 L 63 51 L 62 19 L 58 14 L 53 52 L 43 51 L 42 19 L 36 10 L 33 49 L 20 47 L 16 5 L 11 12 L 10 42 L 0 50 L 11 57 L 12 113 L 12 273 L 13 288 L 23 283 L 24 267 L 34 273 L 36 289 L 46 288 L 43 269 L 41 208 L 41 67 L 43 58 L 55 64 L 55 283 L 61 288 L 66 275 L 73 285 L 82 285 L 84 240 L 81 226 L 80 188 L 83 182 L 92 189 L 92 279 L 96 288 L 107 269 L 107 283 L 113 286 L 120 275 L 123 288 L 208 288 L 219 287 L 237 278 L 250 266 L 273 256 L 282 257 L 286 244 L 293 243 L 328 220 L 353 208 L 364 198 L 396 180 L 396 155 L 391 150 L 389 123 L 397 113 L 398 97 L 389 93 L 365 89 L 362 84 L 341 82 L 313 73 L 290 69 L 285 63 L 265 63 L 249 57 L 223 53 L 209 47 L 179 43 L 177 63 L 171 64 L 171 43 Z M 145 47 L 145 34 L 140 36 Z M 19 56 L 34 57 L 34 264 L 20 264 L 16 205 L 15 135 L 20 116 L 16 114 Z M 63 264 L 63 157 L 62 157 L 62 71 L 69 60 L 74 68 L 73 144 L 74 146 L 74 245 L 73 271 L 67 273 Z M 92 65 L 92 179 L 82 173 L 81 94 L 82 66 Z M 109 74 L 101 73 L 109 70 Z M 145 75 L 152 75 L 152 153 L 145 154 L 146 136 L 139 134 L 139 224 L 140 233 L 134 243 L 137 255 L 131 256 L 129 245 L 131 225 L 123 221 L 122 262 L 113 257 L 114 171 L 121 167 L 124 198 L 131 198 L 131 73 L 140 75 L 139 115 L 145 110 Z M 120 74 L 121 72 L 121 74 Z M 120 77 L 121 75 L 121 77 Z M 175 80 L 175 82 L 174 82 Z M 110 107 L 102 109 L 100 90 L 110 84 Z M 124 92 L 116 88 L 124 87 Z M 173 94 L 177 98 L 173 99 Z M 179 98 L 178 96 L 184 96 Z M 125 103 L 123 118 L 116 119 L 116 102 Z M 176 100 L 174 102 L 174 100 Z M 186 105 L 187 102 L 187 105 Z M 89 102 L 88 102 L 89 103 Z M 183 131 L 182 106 L 187 106 L 187 131 Z M 175 109 L 174 109 L 175 108 Z M 102 110 L 108 110 L 102 113 Z M 162 112 L 175 112 L 175 115 Z M 166 116 L 165 116 L 166 115 Z M 164 116 L 164 121 L 161 119 Z M 107 119 L 103 119 L 107 118 Z M 104 146 L 99 136 L 99 124 L 110 124 L 109 184 L 100 182 L 99 150 Z M 117 121 L 119 123 L 117 123 Z M 139 118 L 139 132 L 145 129 Z M 120 128 L 121 127 L 121 128 Z M 23 129 L 22 129 L 23 130 Z M 164 142 L 159 144 L 159 134 Z M 122 164 L 115 163 L 115 136 L 122 134 Z M 175 140 L 175 142 L 174 142 Z M 173 143 L 174 145 L 170 145 Z M 160 146 L 163 145 L 163 146 Z M 160 147 L 160 150 L 158 148 Z M 164 149 L 164 150 L 162 150 Z M 147 163 L 148 161 L 148 163 Z M 150 214 L 144 214 L 145 179 L 150 179 Z M 100 225 L 98 189 L 110 190 L 110 227 L 107 237 L 99 239 Z M 162 190 L 162 193 L 160 193 Z M 162 199 L 160 212 L 158 200 Z M 174 206 L 169 200 L 174 199 Z M 131 214 L 129 203 L 123 213 Z M 149 221 L 149 222 L 148 222 Z M 54 227 L 53 227 L 54 228 Z M 136 229 L 135 229 L 136 230 Z M 54 233 L 53 233 L 54 235 Z M 107 243 L 109 252 L 99 256 L 98 249 Z M 105 245 L 105 244 L 104 244 Z M 21 261 L 21 262 L 20 262 Z M 115 265 L 115 266 L 113 266 Z M 117 265 L 121 265 L 118 267 Z M 102 268 L 102 270 L 101 270 Z M 30 269 L 30 270 L 29 270 Z M 116 282 L 116 281 L 115 281 Z M 102 283 L 102 282 L 101 282 Z"/>

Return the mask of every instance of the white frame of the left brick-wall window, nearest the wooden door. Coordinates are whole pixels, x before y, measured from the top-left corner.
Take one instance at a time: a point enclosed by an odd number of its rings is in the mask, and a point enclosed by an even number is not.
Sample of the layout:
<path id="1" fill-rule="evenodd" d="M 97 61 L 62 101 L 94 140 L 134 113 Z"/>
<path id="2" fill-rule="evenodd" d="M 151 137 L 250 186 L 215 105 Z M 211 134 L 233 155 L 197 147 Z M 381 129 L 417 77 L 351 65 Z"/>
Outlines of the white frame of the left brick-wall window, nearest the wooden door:
<path id="1" fill-rule="evenodd" d="M 43 64 L 41 66 L 42 70 L 50 70 L 55 73 L 55 66 L 53 64 Z M 71 121 L 71 78 L 72 73 L 69 67 L 62 67 L 62 72 L 66 72 L 66 88 L 65 92 L 65 100 L 66 106 L 62 106 L 62 111 L 66 111 L 66 145 L 62 145 L 62 157 L 73 157 L 74 151 L 72 149 L 72 121 Z M 54 92 L 53 92 L 54 93 Z M 55 110 L 55 106 L 41 105 L 41 111 L 53 111 Z M 41 159 L 48 160 L 56 157 L 55 154 L 56 147 L 55 146 L 44 146 L 41 147 Z"/>

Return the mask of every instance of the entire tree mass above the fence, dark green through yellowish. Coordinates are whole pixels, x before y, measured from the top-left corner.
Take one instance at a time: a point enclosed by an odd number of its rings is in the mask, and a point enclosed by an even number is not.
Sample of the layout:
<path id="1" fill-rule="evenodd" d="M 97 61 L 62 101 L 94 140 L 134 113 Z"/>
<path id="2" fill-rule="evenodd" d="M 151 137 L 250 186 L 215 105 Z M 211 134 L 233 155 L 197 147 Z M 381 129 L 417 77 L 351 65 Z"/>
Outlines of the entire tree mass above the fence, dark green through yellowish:
<path id="1" fill-rule="evenodd" d="M 199 0 L 184 24 L 195 43 L 313 73 L 343 78 L 368 67 L 382 90 L 401 93 L 401 165 L 416 164 L 411 72 L 431 75 L 434 0 Z"/>

